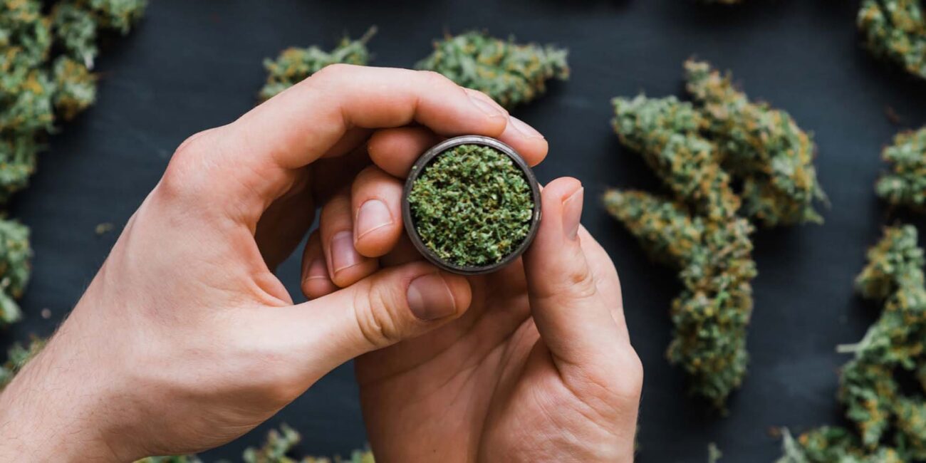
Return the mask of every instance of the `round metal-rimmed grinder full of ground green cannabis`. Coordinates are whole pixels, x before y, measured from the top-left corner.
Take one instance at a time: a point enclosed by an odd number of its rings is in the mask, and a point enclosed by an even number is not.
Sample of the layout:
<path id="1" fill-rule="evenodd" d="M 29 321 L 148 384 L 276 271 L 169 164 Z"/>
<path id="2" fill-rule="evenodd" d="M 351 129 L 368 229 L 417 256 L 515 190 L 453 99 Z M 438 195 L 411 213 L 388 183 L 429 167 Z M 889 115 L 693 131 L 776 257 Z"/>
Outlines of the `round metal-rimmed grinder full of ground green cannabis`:
<path id="1" fill-rule="evenodd" d="M 451 138 L 412 167 L 403 219 L 412 243 L 435 265 L 485 273 L 531 244 L 540 219 L 540 189 L 507 144 L 476 135 Z"/>

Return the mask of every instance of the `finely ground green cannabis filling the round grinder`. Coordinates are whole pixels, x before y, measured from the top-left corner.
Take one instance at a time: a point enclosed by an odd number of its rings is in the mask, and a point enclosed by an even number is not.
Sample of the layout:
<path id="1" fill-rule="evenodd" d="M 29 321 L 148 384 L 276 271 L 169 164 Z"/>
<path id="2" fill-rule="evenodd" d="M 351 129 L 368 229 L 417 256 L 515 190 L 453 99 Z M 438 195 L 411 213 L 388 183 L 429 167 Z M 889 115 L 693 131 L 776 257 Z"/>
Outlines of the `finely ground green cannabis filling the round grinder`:
<path id="1" fill-rule="evenodd" d="M 531 185 L 514 161 L 481 144 L 435 156 L 408 193 L 422 243 L 461 267 L 484 267 L 514 252 L 531 231 Z"/>

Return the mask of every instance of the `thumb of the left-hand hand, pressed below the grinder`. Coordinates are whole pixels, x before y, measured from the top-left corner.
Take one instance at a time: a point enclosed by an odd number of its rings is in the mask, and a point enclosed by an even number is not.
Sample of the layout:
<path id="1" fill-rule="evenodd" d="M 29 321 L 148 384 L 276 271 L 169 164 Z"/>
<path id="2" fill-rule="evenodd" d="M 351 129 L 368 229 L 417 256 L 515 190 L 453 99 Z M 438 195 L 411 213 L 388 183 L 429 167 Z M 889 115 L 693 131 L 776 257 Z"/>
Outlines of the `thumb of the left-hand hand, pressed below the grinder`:
<path id="1" fill-rule="evenodd" d="M 288 307 L 278 332 L 301 344 L 294 348 L 310 357 L 312 369 L 327 372 L 457 319 L 470 300 L 469 282 L 462 276 L 412 262 Z"/>

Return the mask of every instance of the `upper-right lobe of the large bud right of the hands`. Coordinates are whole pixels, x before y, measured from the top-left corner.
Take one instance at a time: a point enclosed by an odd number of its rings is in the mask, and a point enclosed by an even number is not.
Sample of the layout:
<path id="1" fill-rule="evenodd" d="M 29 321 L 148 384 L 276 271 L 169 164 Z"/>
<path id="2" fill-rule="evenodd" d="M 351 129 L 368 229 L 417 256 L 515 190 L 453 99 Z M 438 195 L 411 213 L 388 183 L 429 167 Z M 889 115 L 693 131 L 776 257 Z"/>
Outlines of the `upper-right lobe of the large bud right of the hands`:
<path id="1" fill-rule="evenodd" d="M 724 167 L 743 180 L 746 216 L 767 226 L 822 222 L 813 208 L 825 199 L 813 166 L 815 145 L 790 115 L 753 103 L 706 62 L 685 62 L 686 88 L 703 106 L 706 130 Z"/>

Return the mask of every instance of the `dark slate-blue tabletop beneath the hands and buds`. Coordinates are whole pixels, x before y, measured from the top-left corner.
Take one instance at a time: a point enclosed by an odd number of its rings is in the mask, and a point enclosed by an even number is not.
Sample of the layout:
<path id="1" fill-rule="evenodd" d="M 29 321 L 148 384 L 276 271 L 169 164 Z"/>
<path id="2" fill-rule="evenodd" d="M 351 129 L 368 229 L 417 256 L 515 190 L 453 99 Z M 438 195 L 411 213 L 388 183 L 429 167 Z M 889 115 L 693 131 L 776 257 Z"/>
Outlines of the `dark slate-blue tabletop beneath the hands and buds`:
<path id="1" fill-rule="evenodd" d="M 106 47 L 99 103 L 51 141 L 31 188 L 13 214 L 32 227 L 34 279 L 22 301 L 27 319 L 3 336 L 47 334 L 93 277 L 117 230 L 155 185 L 173 149 L 188 135 L 226 123 L 254 105 L 261 60 L 293 44 L 332 45 L 344 31 L 380 27 L 370 44 L 375 64 L 410 66 L 443 31 L 487 28 L 498 35 L 568 46 L 573 78 L 515 111 L 543 131 L 550 156 L 541 181 L 581 179 L 589 199 L 583 223 L 615 259 L 627 319 L 645 366 L 640 461 L 704 461 L 716 442 L 723 461 L 779 455 L 770 426 L 800 431 L 838 419 L 835 344 L 859 339 L 875 310 L 851 282 L 882 224 L 893 220 L 872 183 L 883 169 L 882 144 L 899 129 L 926 123 L 926 84 L 872 60 L 858 47 L 856 2 L 749 0 L 738 7 L 684 0 L 521 0 L 359 2 L 307 0 L 206 2 L 157 0 L 137 31 Z M 673 272 L 651 264 L 594 197 L 609 185 L 656 188 L 608 126 L 608 99 L 646 91 L 682 93 L 682 60 L 706 58 L 732 69 L 754 97 L 787 109 L 820 146 L 818 167 L 832 208 L 826 224 L 762 231 L 749 338 L 750 373 L 726 418 L 684 394 L 669 367 Z M 166 244 L 169 245 L 169 244 Z M 280 269 L 298 294 L 294 260 Z M 51 310 L 51 319 L 39 316 Z M 303 432 L 301 448 L 344 454 L 363 445 L 350 366 L 335 370 L 256 432 L 205 455 L 237 459 L 269 426 Z M 409 443 L 413 444 L 413 443 Z"/>

